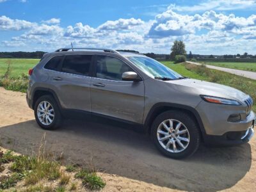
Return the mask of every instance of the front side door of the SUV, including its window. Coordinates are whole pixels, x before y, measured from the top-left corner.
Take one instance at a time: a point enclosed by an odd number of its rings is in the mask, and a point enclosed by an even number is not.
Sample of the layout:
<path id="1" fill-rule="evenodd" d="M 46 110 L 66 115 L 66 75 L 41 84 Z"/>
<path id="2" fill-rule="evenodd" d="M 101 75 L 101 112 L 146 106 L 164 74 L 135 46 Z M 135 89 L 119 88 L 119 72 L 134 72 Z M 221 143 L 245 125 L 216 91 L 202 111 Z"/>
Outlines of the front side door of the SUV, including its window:
<path id="1" fill-rule="evenodd" d="M 123 81 L 124 72 L 134 71 L 113 56 L 98 55 L 91 81 L 92 112 L 142 124 L 144 83 Z"/>

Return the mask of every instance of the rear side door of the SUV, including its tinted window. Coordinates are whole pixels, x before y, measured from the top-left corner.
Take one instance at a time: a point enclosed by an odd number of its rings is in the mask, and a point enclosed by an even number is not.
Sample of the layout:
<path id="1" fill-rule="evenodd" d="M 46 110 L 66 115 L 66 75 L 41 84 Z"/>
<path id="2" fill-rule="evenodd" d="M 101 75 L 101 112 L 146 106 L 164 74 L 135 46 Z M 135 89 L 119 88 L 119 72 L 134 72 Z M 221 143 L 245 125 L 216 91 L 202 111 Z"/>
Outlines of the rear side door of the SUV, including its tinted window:
<path id="1" fill-rule="evenodd" d="M 51 75 L 62 108 L 89 111 L 92 55 L 67 55 Z"/>

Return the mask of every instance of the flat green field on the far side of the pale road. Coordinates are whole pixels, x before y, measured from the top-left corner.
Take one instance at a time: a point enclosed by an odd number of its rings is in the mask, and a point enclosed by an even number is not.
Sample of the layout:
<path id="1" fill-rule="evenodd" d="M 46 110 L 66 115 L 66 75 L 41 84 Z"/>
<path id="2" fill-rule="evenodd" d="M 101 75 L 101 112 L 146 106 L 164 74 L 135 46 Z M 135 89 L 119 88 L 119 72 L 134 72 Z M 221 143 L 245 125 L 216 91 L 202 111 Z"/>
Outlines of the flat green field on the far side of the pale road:
<path id="1" fill-rule="evenodd" d="M 240 70 L 248 70 L 256 72 L 256 63 L 241 63 L 241 62 L 219 62 L 219 61 L 198 61 L 198 63 L 204 63 L 205 65 L 214 65 L 217 67 L 235 68 Z"/>

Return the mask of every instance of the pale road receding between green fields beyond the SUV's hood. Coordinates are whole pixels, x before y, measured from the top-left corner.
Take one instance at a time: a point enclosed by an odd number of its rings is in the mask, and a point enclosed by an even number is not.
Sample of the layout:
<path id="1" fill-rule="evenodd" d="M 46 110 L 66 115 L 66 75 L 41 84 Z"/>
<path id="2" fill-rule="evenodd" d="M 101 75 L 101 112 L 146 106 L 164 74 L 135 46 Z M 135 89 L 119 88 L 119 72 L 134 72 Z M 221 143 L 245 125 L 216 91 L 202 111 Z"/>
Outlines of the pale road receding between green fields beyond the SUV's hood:
<path id="1" fill-rule="evenodd" d="M 195 65 L 202 65 L 201 63 L 195 63 L 195 62 L 191 62 L 191 61 L 186 61 L 186 62 L 191 63 L 191 64 L 195 64 Z M 207 68 L 221 70 L 221 71 L 224 71 L 224 72 L 228 72 L 230 74 L 235 74 L 237 76 L 243 76 L 243 77 L 247 77 L 249 79 L 255 79 L 256 80 L 256 72 L 250 72 L 250 71 L 239 70 L 239 69 L 234 69 L 234 68 L 217 67 L 217 66 L 214 66 L 214 65 L 205 65 L 205 66 Z"/>

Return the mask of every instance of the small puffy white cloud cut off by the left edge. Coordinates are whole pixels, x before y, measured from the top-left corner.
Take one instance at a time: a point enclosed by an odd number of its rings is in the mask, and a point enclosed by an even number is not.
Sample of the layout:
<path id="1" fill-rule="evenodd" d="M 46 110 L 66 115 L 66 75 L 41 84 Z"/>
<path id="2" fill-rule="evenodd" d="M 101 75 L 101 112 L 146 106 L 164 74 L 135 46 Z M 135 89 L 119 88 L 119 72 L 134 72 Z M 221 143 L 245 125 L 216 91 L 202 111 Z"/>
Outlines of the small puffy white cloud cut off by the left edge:
<path id="1" fill-rule="evenodd" d="M 26 20 L 10 19 L 4 15 L 0 17 L 0 31 L 20 31 L 29 29 L 32 26 L 35 26 L 35 23 Z"/>

